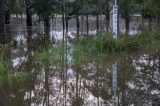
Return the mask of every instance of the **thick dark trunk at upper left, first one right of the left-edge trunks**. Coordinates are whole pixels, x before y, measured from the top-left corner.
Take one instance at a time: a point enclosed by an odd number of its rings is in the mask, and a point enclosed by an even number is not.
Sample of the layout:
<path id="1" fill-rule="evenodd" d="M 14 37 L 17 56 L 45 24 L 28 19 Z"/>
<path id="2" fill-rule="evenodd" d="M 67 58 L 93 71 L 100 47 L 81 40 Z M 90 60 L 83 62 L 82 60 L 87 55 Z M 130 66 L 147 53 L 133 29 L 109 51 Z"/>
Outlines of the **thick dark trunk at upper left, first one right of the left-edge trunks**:
<path id="1" fill-rule="evenodd" d="M 27 20 L 26 20 L 26 24 L 27 26 L 32 26 L 32 13 L 31 13 L 31 2 L 30 0 L 25 0 L 25 4 L 26 4 L 26 16 L 27 16 Z"/>

